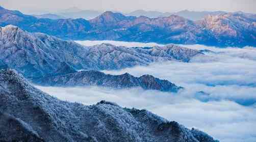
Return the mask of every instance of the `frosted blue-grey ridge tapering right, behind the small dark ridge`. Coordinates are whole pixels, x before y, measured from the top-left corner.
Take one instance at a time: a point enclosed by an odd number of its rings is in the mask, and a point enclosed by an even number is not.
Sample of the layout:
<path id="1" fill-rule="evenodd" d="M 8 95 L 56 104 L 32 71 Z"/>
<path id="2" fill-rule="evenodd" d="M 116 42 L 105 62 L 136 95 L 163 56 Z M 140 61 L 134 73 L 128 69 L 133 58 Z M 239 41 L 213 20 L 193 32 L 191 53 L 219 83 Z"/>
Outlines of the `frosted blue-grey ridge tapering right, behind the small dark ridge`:
<path id="1" fill-rule="evenodd" d="M 194 56 L 203 55 L 176 45 L 86 47 L 43 33 L 29 33 L 13 25 L 0 27 L 0 54 L 0 60 L 27 78 L 63 75 L 79 69 L 121 69 L 168 60 L 188 62 Z"/>

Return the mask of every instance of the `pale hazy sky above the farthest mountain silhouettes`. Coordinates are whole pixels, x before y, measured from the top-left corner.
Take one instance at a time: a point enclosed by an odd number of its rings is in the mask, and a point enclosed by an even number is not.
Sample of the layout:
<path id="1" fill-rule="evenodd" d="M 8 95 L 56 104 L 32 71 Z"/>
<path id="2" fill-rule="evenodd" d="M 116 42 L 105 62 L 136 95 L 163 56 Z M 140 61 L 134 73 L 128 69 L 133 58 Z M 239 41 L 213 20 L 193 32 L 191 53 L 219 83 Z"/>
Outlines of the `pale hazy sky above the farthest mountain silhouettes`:
<path id="1" fill-rule="evenodd" d="M 244 11 L 256 13 L 255 0 L 0 0 L 0 5 L 22 12 L 58 11 L 71 7 L 85 10 L 116 10 L 131 12 L 138 9 L 162 12 L 192 11 Z"/>

